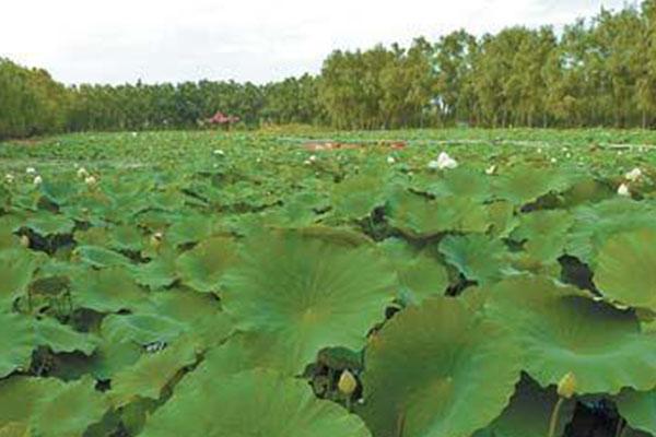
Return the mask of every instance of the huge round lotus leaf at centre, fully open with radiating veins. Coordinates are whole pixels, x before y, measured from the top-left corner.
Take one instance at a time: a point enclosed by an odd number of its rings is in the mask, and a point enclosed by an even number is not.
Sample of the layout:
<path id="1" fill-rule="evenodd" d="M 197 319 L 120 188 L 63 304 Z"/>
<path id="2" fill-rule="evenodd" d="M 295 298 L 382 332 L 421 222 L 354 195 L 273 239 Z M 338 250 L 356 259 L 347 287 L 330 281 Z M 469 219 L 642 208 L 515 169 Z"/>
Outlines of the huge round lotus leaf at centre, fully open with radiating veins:
<path id="1" fill-rule="evenodd" d="M 313 235 L 314 233 L 314 235 Z M 225 277 L 225 310 L 237 329 L 268 333 L 302 371 L 329 346 L 360 349 L 384 317 L 396 274 L 347 233 L 271 233 L 253 238 Z"/>

